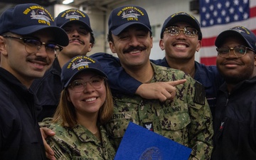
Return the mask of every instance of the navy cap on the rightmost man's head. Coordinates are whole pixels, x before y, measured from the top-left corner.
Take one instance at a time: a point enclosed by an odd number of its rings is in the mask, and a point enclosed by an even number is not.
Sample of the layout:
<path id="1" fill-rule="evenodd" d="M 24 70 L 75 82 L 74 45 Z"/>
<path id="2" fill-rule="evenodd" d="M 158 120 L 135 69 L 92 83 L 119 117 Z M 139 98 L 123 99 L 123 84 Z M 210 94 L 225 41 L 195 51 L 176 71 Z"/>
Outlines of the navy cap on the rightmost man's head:
<path id="1" fill-rule="evenodd" d="M 247 47 L 256 51 L 256 36 L 254 33 L 252 33 L 252 31 L 250 31 L 248 28 L 245 28 L 244 26 L 235 26 L 221 32 L 215 40 L 215 46 L 220 47 L 225 41 L 225 38 L 231 36 L 238 36 L 247 43 Z"/>

